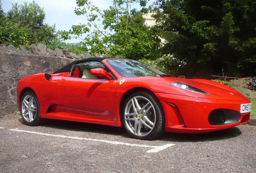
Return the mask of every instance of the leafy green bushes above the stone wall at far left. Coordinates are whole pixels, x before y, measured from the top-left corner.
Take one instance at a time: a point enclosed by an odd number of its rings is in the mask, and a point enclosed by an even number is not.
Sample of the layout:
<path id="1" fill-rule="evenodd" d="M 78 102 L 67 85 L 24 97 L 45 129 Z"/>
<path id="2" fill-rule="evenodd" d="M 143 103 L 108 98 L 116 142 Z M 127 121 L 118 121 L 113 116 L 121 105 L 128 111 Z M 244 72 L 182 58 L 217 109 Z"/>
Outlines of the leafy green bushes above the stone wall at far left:
<path id="1" fill-rule="evenodd" d="M 44 19 L 45 12 L 35 1 L 12 4 L 7 13 L 0 7 L 0 43 L 16 47 L 38 42 L 51 44 L 56 37 L 55 25 L 44 24 Z"/>

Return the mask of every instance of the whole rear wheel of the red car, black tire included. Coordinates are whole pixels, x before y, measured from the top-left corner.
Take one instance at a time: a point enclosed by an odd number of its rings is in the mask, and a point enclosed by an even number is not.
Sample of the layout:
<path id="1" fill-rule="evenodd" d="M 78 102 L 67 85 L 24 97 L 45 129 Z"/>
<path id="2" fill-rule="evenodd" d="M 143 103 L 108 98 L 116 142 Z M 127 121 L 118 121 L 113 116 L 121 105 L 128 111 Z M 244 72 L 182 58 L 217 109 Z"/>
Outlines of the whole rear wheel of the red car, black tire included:
<path id="1" fill-rule="evenodd" d="M 42 123 L 39 101 L 33 91 L 27 91 L 21 97 L 21 117 L 28 126 L 37 126 Z"/>

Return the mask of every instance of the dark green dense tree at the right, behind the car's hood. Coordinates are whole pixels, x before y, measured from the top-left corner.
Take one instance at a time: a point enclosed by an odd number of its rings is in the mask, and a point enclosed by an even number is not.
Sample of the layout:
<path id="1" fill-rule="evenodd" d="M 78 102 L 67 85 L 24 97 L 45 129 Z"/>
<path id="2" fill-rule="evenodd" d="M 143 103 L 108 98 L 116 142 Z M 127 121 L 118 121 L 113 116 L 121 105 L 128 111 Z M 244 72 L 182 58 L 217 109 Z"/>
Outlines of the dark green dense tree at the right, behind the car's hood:
<path id="1" fill-rule="evenodd" d="M 255 0 L 158 0 L 156 6 L 163 55 L 193 70 L 256 75 Z"/>

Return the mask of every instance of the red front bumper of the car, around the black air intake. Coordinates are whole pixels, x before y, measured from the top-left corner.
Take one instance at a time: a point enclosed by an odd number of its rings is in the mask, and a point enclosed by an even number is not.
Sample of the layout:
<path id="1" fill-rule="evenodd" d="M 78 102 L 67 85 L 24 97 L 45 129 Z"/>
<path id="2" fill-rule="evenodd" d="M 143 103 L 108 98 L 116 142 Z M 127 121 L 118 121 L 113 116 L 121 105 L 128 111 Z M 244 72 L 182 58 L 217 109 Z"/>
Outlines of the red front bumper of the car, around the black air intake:
<path id="1" fill-rule="evenodd" d="M 178 133 L 205 133 L 227 129 L 250 120 L 249 113 L 240 113 L 241 104 L 250 103 L 249 99 L 230 101 L 202 99 L 183 95 L 155 93 L 165 112 L 165 131 Z M 215 109 L 233 110 L 240 117 L 231 124 L 211 125 L 209 114 Z"/>

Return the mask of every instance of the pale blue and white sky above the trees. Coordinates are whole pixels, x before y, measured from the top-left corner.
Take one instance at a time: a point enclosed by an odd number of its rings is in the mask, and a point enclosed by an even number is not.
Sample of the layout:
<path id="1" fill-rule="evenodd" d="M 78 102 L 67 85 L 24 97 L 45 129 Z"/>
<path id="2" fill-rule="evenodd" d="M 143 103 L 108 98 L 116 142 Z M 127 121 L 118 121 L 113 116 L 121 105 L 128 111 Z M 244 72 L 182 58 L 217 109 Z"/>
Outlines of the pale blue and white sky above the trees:
<path id="1" fill-rule="evenodd" d="M 33 0 L 2 0 L 2 9 L 8 12 L 12 8 L 12 3 L 24 4 Z M 149 4 L 152 4 L 151 0 Z M 45 12 L 45 23 L 54 25 L 56 30 L 70 30 L 72 25 L 87 23 L 84 16 L 76 16 L 74 9 L 76 0 L 35 0 Z M 105 10 L 112 4 L 112 0 L 91 0 L 100 10 Z M 80 40 L 69 40 L 68 42 L 78 42 Z"/>

